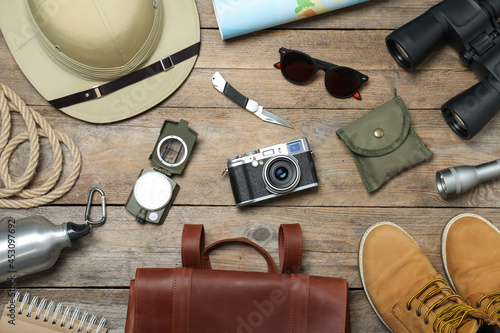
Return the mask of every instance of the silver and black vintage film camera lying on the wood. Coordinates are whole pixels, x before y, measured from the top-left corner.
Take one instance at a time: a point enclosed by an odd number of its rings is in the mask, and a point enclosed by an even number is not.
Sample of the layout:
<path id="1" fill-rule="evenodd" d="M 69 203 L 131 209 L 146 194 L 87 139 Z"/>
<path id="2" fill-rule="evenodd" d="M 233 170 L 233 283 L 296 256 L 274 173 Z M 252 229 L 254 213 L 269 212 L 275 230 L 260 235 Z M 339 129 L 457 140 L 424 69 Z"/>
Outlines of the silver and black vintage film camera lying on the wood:
<path id="1" fill-rule="evenodd" d="M 306 138 L 238 155 L 227 171 L 238 207 L 318 186 Z"/>

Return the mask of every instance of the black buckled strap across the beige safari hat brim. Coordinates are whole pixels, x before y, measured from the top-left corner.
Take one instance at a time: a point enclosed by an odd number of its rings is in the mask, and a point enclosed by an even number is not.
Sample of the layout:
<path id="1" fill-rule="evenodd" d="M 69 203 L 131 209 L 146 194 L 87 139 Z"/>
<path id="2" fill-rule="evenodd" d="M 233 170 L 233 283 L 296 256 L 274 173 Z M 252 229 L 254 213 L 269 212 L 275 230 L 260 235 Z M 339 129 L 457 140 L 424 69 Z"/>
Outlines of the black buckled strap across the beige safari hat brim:
<path id="1" fill-rule="evenodd" d="M 155 74 L 168 71 L 175 65 L 194 57 L 200 52 L 200 42 L 186 47 L 185 49 L 174 53 L 170 56 L 160 59 L 159 61 L 141 68 L 135 72 L 122 76 L 119 79 L 110 81 L 100 86 L 92 87 L 84 91 L 80 91 L 68 96 L 53 99 L 49 101 L 54 107 L 61 109 L 74 104 L 98 99 L 109 95 L 122 88 L 128 87 L 134 83 L 147 79 Z"/>

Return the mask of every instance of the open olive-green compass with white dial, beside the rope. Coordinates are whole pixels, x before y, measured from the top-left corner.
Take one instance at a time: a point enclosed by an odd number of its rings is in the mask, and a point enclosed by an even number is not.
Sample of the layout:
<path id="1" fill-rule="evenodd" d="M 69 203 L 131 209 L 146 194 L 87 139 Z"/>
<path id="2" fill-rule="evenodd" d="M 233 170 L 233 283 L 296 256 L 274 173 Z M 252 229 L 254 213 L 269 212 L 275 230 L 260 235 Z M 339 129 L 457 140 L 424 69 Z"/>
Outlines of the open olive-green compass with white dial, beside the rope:
<path id="1" fill-rule="evenodd" d="M 174 202 L 179 185 L 170 177 L 181 174 L 187 164 L 198 133 L 188 122 L 165 120 L 155 148 L 149 156 L 154 170 L 143 169 L 125 208 L 141 223 L 162 224 Z"/>

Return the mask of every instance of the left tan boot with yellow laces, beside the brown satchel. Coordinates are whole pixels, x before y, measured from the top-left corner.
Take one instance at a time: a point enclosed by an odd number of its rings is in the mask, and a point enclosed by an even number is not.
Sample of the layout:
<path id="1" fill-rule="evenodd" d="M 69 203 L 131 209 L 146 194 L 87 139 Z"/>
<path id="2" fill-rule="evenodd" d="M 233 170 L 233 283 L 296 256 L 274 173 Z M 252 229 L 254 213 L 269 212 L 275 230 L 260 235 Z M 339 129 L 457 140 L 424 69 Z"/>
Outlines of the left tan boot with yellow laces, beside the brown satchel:
<path id="1" fill-rule="evenodd" d="M 390 222 L 369 228 L 359 268 L 366 295 L 394 333 L 475 333 L 488 318 L 467 305 L 436 272 L 418 244 Z"/>

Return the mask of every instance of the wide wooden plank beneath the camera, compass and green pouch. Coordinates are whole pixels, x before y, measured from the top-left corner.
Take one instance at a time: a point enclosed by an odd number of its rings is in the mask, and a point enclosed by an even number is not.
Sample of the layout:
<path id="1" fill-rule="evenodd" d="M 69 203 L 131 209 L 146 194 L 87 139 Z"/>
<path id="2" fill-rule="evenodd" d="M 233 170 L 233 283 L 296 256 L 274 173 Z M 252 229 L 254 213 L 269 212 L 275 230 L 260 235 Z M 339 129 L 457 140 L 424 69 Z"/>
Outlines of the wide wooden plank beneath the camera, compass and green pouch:
<path id="1" fill-rule="evenodd" d="M 226 103 L 223 96 L 218 102 Z M 229 178 L 222 176 L 227 159 L 299 137 L 307 137 L 314 149 L 320 186 L 262 202 L 271 206 L 393 206 L 393 207 L 496 207 L 500 183 L 491 181 L 472 191 L 443 200 L 435 184 L 438 170 L 456 165 L 478 165 L 497 158 L 500 146 L 491 140 L 500 134 L 496 117 L 473 140 L 464 141 L 444 123 L 438 110 L 410 110 L 413 127 L 435 156 L 391 179 L 368 194 L 349 150 L 336 136 L 342 126 L 361 117 L 365 110 L 270 109 L 295 126 L 288 129 L 265 124 L 242 109 L 157 108 L 118 124 L 92 125 L 62 116 L 53 109 L 37 108 L 54 128 L 66 133 L 80 147 L 83 166 L 74 189 L 58 204 L 86 203 L 88 191 L 100 187 L 109 204 L 123 205 L 141 169 L 148 161 L 165 119 L 186 119 L 199 133 L 195 150 L 183 175 L 172 177 L 181 190 L 176 205 L 234 205 Z M 14 128 L 24 128 L 13 115 Z M 245 129 L 245 130 L 242 130 Z M 50 148 L 42 141 L 43 158 L 34 184 L 42 183 L 52 169 Z M 14 153 L 11 167 L 20 177 L 27 163 L 28 145 Z M 66 172 L 69 172 L 68 163 Z M 17 179 L 17 178 L 15 178 Z"/>

